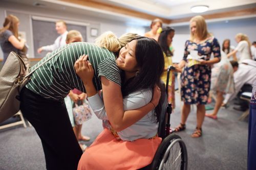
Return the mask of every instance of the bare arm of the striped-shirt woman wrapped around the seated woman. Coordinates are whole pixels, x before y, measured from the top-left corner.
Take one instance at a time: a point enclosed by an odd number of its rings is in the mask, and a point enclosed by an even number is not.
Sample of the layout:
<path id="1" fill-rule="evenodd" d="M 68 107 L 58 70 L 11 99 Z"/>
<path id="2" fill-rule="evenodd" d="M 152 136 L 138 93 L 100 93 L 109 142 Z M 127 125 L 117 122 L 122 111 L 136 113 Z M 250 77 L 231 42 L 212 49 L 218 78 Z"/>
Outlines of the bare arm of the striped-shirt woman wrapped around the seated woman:
<path id="1" fill-rule="evenodd" d="M 160 88 L 155 87 L 153 92 L 154 96 L 150 103 L 139 109 L 127 110 L 124 112 L 120 86 L 109 81 L 105 77 L 101 77 L 101 83 L 106 114 L 109 118 L 111 126 L 116 131 L 121 131 L 138 122 L 138 120 L 140 120 L 158 105 L 161 96 Z"/>

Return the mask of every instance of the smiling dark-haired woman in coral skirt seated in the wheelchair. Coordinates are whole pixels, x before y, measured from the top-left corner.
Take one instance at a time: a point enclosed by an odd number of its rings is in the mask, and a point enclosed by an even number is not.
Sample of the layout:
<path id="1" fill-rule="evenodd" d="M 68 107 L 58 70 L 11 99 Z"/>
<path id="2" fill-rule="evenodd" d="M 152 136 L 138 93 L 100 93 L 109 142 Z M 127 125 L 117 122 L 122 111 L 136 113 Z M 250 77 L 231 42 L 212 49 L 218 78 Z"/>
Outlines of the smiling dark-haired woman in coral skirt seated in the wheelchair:
<path id="1" fill-rule="evenodd" d="M 156 84 L 159 84 L 164 68 L 161 47 L 153 39 L 139 37 L 120 50 L 116 62 L 122 70 L 123 109 L 134 110 L 147 103 L 155 107 L 136 123 L 133 123 L 135 114 L 125 113 L 122 128 L 112 126 L 111 118 L 118 121 L 115 118 L 118 116 L 105 112 L 103 101 L 92 83 L 94 70 L 86 58 L 81 57 L 82 62 L 77 61 L 75 67 L 87 89 L 93 111 L 103 120 L 104 130 L 83 153 L 78 169 L 139 169 L 150 164 L 161 143 L 161 138 L 157 137 L 161 102 L 150 102 L 153 94 L 159 95 Z M 106 95 L 105 91 L 103 95 Z"/>

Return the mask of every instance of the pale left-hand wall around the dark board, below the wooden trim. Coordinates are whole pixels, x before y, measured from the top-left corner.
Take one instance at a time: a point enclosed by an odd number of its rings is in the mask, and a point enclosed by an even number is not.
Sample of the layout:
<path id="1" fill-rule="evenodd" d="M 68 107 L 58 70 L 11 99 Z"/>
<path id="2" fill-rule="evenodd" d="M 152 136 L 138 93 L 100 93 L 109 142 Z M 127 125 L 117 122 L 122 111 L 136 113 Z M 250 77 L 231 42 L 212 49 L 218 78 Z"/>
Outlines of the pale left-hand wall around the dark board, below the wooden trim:
<path id="1" fill-rule="evenodd" d="M 7 11 L 7 12 L 6 12 Z M 121 21 L 114 21 L 114 20 L 108 20 L 100 18 L 100 15 L 97 17 L 87 16 L 86 14 L 76 14 L 76 13 L 70 13 L 63 10 L 48 10 L 44 8 L 38 8 L 34 6 L 28 6 L 23 4 L 14 4 L 11 2 L 1 2 L 0 1 L 0 28 L 2 28 L 2 24 L 4 23 L 4 19 L 6 16 L 6 13 L 10 14 L 13 13 L 18 18 L 20 17 L 20 25 L 19 25 L 19 31 L 26 32 L 27 36 L 27 43 L 30 47 L 28 54 L 30 58 L 34 57 L 33 52 L 33 36 L 32 36 L 32 25 L 30 24 L 31 16 L 44 16 L 44 17 L 50 17 L 50 18 L 56 18 L 56 19 L 67 19 L 67 20 L 74 20 L 78 22 L 84 22 L 89 23 L 90 26 L 88 26 L 87 29 L 87 41 L 88 42 L 94 42 L 96 37 L 90 36 L 90 30 L 91 28 L 96 28 L 99 30 L 98 34 L 101 34 L 105 31 L 112 31 L 117 36 L 120 36 L 124 33 L 126 33 L 127 27 L 130 27 L 125 22 Z M 144 29 L 142 26 L 132 26 L 138 29 Z M 54 29 L 54 28 L 53 28 Z M 53 42 L 49 42 L 51 44 Z M 0 50 L 0 58 L 3 58 L 3 52 Z"/>

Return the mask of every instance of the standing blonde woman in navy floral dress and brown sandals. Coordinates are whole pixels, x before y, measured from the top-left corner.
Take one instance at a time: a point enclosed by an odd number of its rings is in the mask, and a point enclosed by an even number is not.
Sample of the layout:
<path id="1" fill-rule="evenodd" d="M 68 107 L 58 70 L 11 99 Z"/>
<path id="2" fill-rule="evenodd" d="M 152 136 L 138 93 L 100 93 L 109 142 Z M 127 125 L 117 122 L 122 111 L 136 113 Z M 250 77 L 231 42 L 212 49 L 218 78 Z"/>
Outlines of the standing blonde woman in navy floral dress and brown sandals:
<path id="1" fill-rule="evenodd" d="M 210 59 L 212 53 L 214 58 Z M 179 68 L 183 68 L 186 65 L 181 75 L 181 98 L 184 105 L 181 123 L 175 128 L 175 131 L 185 130 L 190 105 L 196 104 L 197 126 L 191 137 L 200 137 L 202 135 L 205 104 L 207 103 L 210 89 L 210 65 L 218 63 L 220 59 L 220 44 L 214 36 L 208 33 L 204 17 L 198 15 L 191 18 L 190 39 L 185 43 L 184 57 L 179 63 Z"/>

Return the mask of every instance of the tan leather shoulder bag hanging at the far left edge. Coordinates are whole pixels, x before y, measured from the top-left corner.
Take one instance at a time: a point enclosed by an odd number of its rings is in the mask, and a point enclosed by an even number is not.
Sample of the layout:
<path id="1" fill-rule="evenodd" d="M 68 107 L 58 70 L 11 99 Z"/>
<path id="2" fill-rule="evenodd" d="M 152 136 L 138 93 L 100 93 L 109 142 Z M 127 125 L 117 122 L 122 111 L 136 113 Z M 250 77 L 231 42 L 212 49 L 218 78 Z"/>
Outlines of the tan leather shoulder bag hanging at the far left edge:
<path id="1" fill-rule="evenodd" d="M 11 52 L 0 71 L 0 123 L 19 111 L 19 92 L 30 80 L 21 57 Z"/>

